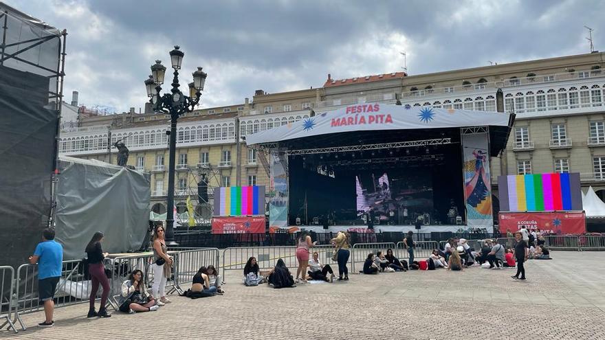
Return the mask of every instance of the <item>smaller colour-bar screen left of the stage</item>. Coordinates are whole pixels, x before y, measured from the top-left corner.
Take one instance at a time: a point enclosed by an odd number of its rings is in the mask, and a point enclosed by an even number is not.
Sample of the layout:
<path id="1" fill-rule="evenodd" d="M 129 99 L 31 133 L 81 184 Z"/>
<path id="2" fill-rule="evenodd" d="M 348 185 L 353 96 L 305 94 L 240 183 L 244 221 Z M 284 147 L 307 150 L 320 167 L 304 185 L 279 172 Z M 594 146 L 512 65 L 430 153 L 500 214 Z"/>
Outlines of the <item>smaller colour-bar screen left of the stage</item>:
<path id="1" fill-rule="evenodd" d="M 213 216 L 265 215 L 265 187 L 214 188 Z"/>

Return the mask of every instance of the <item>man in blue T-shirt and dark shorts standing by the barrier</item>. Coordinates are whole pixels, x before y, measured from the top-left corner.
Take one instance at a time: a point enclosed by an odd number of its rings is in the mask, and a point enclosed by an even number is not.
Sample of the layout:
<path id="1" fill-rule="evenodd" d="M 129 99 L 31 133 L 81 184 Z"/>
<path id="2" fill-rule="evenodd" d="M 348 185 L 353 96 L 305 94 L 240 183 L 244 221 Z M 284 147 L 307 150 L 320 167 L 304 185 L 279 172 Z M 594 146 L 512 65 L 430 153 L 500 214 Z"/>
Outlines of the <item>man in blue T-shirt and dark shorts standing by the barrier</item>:
<path id="1" fill-rule="evenodd" d="M 38 324 L 40 327 L 52 327 L 54 312 L 54 291 L 61 277 L 63 267 L 63 247 L 54 240 L 54 228 L 44 229 L 42 242 L 36 247 L 30 263 L 38 263 L 38 299 L 44 303 L 46 320 Z"/>

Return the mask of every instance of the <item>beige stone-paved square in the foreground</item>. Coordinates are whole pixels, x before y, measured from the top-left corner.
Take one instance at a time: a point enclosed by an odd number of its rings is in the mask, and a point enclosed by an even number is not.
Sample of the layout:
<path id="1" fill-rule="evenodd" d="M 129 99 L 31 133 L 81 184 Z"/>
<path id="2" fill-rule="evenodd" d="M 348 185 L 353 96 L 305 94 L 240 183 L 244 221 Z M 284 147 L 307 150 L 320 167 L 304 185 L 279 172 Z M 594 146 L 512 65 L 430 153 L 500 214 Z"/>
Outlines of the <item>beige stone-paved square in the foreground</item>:
<path id="1" fill-rule="evenodd" d="M 87 304 L 23 315 L 5 339 L 605 339 L 605 252 L 553 251 L 514 269 L 351 274 L 349 282 L 245 287 L 228 271 L 223 296 L 173 296 L 157 312 L 87 319 Z M 336 267 L 336 266 L 334 266 Z M 291 269 L 296 271 L 296 268 Z"/>

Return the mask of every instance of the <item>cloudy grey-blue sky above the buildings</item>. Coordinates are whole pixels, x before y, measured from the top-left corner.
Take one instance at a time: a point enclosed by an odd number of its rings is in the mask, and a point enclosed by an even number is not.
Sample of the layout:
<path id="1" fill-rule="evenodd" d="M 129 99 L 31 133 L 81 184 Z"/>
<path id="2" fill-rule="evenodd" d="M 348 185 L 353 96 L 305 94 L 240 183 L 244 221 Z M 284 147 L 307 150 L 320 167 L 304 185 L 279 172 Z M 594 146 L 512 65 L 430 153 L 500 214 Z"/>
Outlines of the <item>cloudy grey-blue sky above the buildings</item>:
<path id="1" fill-rule="evenodd" d="M 208 72 L 204 107 L 400 71 L 403 51 L 410 74 L 582 54 L 584 25 L 605 50 L 605 1 L 1 1 L 67 29 L 67 102 L 77 90 L 118 111 L 144 106 L 149 67 L 169 67 L 173 45 L 181 83 Z"/>

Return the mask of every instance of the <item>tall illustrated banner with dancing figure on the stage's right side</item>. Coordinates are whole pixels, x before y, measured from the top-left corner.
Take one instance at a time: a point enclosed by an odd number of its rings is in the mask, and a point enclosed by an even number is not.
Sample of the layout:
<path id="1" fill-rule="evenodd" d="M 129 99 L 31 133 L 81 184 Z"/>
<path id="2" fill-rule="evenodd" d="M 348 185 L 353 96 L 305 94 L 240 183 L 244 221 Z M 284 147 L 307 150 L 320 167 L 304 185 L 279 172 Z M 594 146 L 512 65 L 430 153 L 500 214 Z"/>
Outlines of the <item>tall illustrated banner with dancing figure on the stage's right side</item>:
<path id="1" fill-rule="evenodd" d="M 462 135 L 464 201 L 469 227 L 494 229 L 492 183 L 489 175 L 489 135 Z"/>

